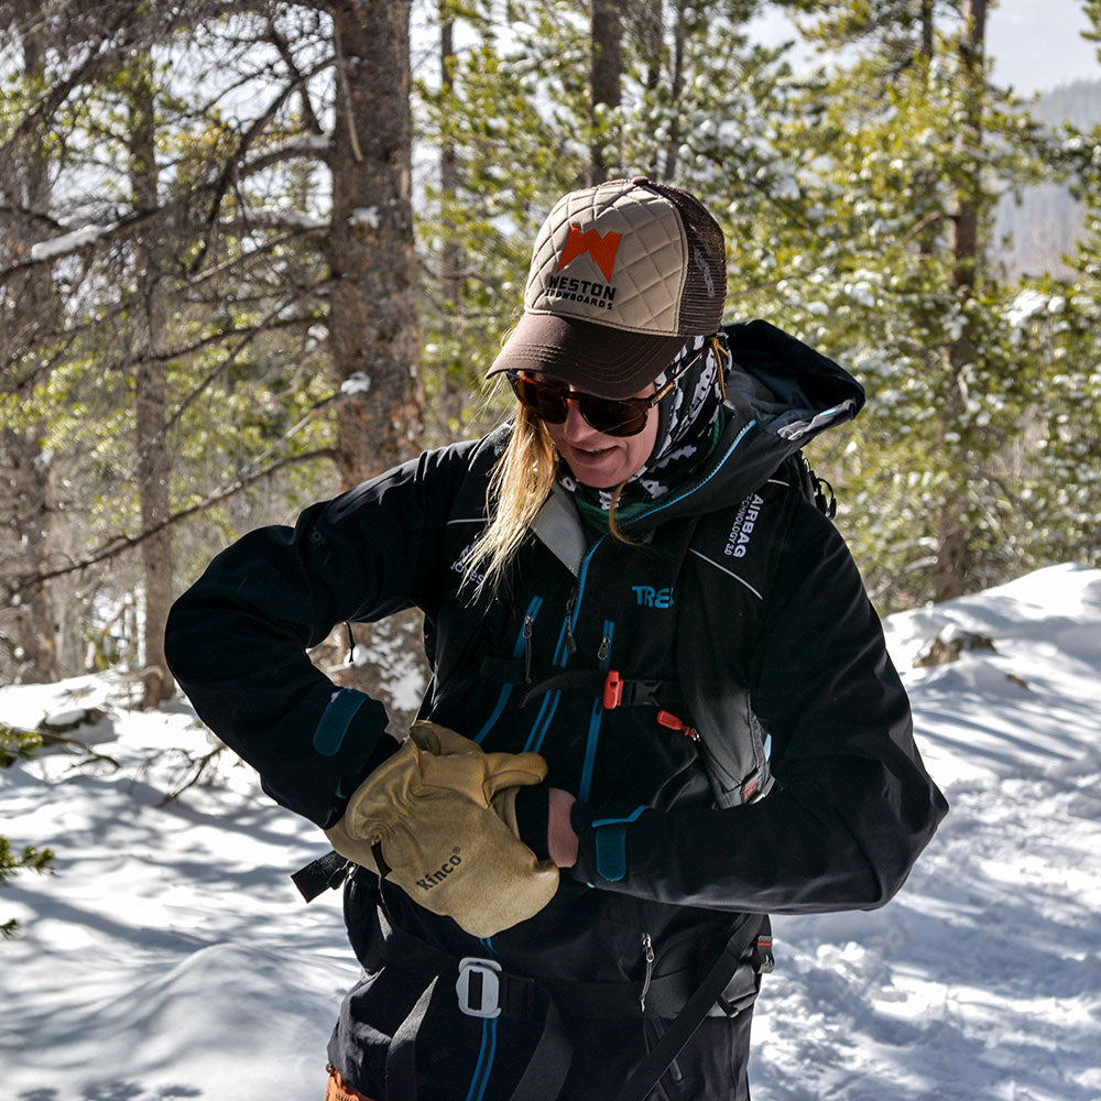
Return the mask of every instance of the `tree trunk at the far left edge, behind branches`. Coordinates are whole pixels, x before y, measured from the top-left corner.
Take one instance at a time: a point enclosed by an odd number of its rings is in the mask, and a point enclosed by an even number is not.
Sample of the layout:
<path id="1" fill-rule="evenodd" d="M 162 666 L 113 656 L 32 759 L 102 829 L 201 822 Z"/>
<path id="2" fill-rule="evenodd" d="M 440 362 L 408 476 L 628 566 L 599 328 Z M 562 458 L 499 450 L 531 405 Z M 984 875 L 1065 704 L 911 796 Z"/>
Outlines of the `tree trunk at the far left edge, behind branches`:
<path id="1" fill-rule="evenodd" d="M 42 66 L 43 51 L 33 21 L 29 20 L 28 25 L 19 25 L 17 30 L 24 69 L 28 74 L 36 74 Z M 33 216 L 50 211 L 50 175 L 46 159 L 35 148 L 33 137 L 24 154 L 13 157 L 10 163 L 19 167 L 9 178 L 0 179 L 0 192 L 7 193 L 13 205 L 32 215 L 25 226 L 14 217 L 9 222 L 11 229 L 6 233 L 3 252 L 18 260 L 25 259 L 36 240 L 48 236 L 43 232 L 44 224 L 34 220 Z M 61 312 L 48 266 L 12 280 L 2 302 L 0 346 L 9 352 L 17 348 L 34 349 L 39 331 L 54 328 Z M 20 372 L 30 379 L 28 390 L 35 383 L 45 383 L 50 375 L 48 357 L 36 364 L 29 362 L 32 357 L 33 352 L 24 361 L 29 370 Z M 3 389 L 8 389 L 7 384 Z M 50 456 L 42 446 L 45 434 L 44 422 L 4 425 L 0 429 L 0 458 L 4 471 L 0 478 L 3 499 L 0 565 L 13 582 L 19 577 L 41 577 L 50 565 L 53 508 Z M 0 639 L 8 653 L 0 668 L 7 668 L 12 679 L 21 682 L 55 679 L 58 675 L 57 631 L 48 582 L 17 585 L 4 620 Z"/>

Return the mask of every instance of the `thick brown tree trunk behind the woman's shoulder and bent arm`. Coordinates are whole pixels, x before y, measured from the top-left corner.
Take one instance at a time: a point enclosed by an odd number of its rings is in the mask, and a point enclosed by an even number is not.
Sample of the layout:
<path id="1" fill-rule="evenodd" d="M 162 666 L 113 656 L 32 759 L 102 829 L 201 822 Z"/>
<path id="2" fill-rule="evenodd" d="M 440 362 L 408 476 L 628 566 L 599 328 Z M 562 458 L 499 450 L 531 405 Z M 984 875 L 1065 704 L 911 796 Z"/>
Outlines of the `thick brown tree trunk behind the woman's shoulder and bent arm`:
<path id="1" fill-rule="evenodd" d="M 344 488 L 416 455 L 424 432 L 413 252 L 410 0 L 333 0 L 337 79 L 330 166 L 329 315 Z M 410 533 L 414 537 L 414 533 Z M 334 679 L 380 699 L 393 729 L 412 718 L 397 666 L 425 677 L 419 613 L 356 625 L 359 665 Z M 396 666 L 394 658 L 396 657 Z"/>

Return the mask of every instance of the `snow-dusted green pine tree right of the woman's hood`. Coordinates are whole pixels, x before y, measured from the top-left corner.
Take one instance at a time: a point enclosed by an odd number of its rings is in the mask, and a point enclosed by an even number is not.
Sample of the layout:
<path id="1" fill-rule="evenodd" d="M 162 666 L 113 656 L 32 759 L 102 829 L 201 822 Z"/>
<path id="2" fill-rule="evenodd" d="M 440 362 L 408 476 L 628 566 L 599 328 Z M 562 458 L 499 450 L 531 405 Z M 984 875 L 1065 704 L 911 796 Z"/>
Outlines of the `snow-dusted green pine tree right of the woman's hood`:
<path id="1" fill-rule="evenodd" d="M 813 232 L 785 242 L 777 288 L 869 389 L 843 442 L 849 523 L 873 593 L 905 607 L 1022 564 L 1020 444 L 1042 364 L 1014 342 L 991 212 L 1003 192 L 1050 178 L 1057 156 L 989 78 L 984 3 L 821 8 L 814 33 L 861 48 L 808 88 L 791 134 L 814 166 Z"/>

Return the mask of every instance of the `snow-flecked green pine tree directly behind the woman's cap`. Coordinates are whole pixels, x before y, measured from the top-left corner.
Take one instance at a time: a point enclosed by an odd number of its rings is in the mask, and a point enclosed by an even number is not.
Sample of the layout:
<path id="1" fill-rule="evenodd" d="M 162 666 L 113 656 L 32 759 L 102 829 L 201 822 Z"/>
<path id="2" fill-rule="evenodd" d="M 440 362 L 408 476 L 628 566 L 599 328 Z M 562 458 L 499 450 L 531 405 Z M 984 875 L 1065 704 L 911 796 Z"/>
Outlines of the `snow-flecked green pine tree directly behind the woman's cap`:
<path id="1" fill-rule="evenodd" d="M 429 407 L 440 393 L 477 391 L 520 313 L 539 222 L 591 179 L 650 174 L 695 189 L 726 220 L 732 287 L 759 279 L 789 215 L 789 174 L 770 138 L 793 90 L 781 51 L 749 39 L 759 7 L 640 0 L 614 18 L 581 0 L 462 9 L 470 44 L 447 79 L 418 86 L 425 139 L 456 166 L 446 188 L 426 189 L 419 222 Z M 445 254 L 462 257 L 446 283 Z M 477 413 L 465 419 L 449 429 L 472 427 Z"/>

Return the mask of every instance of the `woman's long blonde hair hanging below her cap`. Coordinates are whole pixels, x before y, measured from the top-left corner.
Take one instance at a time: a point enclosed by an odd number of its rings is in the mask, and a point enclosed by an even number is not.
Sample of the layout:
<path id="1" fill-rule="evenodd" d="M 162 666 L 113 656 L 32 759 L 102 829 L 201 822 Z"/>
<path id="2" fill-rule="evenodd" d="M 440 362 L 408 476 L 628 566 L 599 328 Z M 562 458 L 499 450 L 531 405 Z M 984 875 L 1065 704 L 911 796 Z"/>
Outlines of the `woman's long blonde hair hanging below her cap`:
<path id="1" fill-rule="evenodd" d="M 516 422 L 504 453 L 497 460 L 486 493 L 489 526 L 478 536 L 464 563 L 462 581 L 475 582 L 475 596 L 494 596 L 509 563 L 527 537 L 536 513 L 554 489 L 558 451 L 544 423 L 523 405 L 516 405 Z M 615 510 L 626 482 L 612 492 L 608 527 L 621 542 L 631 542 L 615 523 Z"/>

